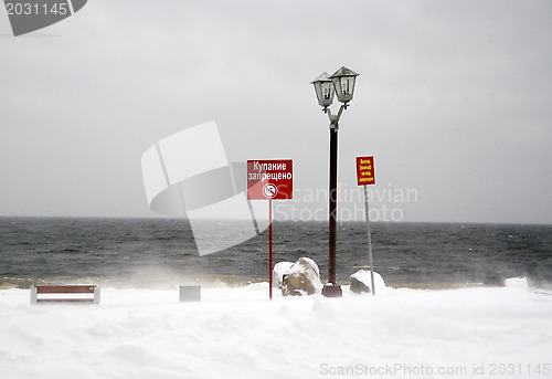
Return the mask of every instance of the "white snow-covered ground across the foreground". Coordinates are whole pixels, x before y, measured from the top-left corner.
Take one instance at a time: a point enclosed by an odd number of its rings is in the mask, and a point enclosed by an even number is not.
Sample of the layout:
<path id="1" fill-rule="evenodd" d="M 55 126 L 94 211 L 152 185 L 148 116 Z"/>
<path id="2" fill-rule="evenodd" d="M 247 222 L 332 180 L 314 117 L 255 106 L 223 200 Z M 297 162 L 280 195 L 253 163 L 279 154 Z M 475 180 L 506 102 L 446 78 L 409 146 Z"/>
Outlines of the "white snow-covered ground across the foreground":
<path id="1" fill-rule="evenodd" d="M 33 306 L 2 289 L 0 377 L 552 378 L 552 295 L 522 285 L 201 297 L 102 288 L 99 305 Z"/>

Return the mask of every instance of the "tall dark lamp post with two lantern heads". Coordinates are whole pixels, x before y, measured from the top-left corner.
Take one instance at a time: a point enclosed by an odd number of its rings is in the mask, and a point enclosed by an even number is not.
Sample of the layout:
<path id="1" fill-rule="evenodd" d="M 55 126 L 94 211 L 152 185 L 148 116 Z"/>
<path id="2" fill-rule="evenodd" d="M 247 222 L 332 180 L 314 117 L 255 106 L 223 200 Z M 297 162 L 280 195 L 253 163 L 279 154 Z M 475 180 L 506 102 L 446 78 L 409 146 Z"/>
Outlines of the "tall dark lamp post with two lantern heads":
<path id="1" fill-rule="evenodd" d="M 338 130 L 339 119 L 347 109 L 354 93 L 357 80 L 354 71 L 341 67 L 332 75 L 325 72 L 311 83 L 315 85 L 318 104 L 330 119 L 330 183 L 329 183 L 329 233 L 328 233 L 328 283 L 322 288 L 326 297 L 342 296 L 341 287 L 336 283 L 336 242 L 337 242 L 337 208 L 338 208 Z M 333 103 L 333 92 L 341 103 L 336 115 L 329 106 Z"/>

